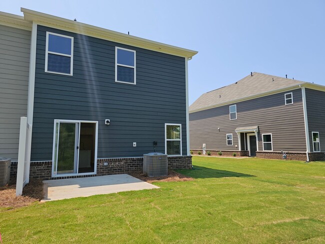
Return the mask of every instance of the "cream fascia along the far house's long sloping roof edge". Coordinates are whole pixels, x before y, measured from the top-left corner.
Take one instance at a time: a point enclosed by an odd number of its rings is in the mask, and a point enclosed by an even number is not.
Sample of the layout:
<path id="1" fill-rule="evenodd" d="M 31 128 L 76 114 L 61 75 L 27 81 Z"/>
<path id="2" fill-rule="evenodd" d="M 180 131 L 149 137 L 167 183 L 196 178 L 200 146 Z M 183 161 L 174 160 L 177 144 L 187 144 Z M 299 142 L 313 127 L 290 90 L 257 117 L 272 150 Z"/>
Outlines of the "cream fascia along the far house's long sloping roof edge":
<path id="1" fill-rule="evenodd" d="M 189 111 L 189 113 L 198 112 L 198 111 L 202 111 L 202 110 L 206 110 L 206 109 L 210 109 L 210 108 L 214 108 L 214 107 L 220 107 L 220 106 L 237 103 L 237 102 L 241 102 L 241 101 L 251 100 L 251 99 L 258 98 L 258 97 L 272 95 L 272 94 L 276 94 L 276 93 L 280 93 L 280 92 L 284 92 L 284 91 L 288 91 L 288 90 L 298 89 L 298 88 L 300 88 L 300 85 L 302 85 L 302 84 L 296 84 L 296 85 L 287 86 L 287 87 L 276 89 L 276 90 L 266 91 L 266 92 L 258 93 L 255 95 L 242 97 L 242 98 L 235 99 L 235 100 L 225 101 L 225 102 L 222 102 L 222 103 L 219 103 L 216 105 L 211 105 L 211 106 L 194 109 L 194 110 Z"/>

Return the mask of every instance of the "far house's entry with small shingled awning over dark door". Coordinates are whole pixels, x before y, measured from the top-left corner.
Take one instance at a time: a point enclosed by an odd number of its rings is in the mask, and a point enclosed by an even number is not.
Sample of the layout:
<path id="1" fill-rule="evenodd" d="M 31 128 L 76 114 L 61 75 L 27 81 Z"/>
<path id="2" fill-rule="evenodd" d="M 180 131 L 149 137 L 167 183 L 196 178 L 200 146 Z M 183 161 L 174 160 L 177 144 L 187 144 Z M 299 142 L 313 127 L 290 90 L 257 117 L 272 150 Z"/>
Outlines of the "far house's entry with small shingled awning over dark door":
<path id="1" fill-rule="evenodd" d="M 249 156 L 256 156 L 258 150 L 258 125 L 237 127 L 239 150 L 248 150 Z"/>

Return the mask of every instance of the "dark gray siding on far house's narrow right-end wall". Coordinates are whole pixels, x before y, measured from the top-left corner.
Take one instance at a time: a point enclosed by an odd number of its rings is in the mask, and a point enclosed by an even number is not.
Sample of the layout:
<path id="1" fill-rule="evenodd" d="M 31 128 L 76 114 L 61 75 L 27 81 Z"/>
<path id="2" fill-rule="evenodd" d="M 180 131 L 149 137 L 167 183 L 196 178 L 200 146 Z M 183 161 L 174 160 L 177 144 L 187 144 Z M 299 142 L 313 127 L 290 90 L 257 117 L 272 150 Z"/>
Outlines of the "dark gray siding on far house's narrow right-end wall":
<path id="1" fill-rule="evenodd" d="M 310 150 L 313 151 L 311 132 L 314 131 L 319 132 L 320 151 L 325 151 L 325 92 L 307 88 L 305 90 Z"/>

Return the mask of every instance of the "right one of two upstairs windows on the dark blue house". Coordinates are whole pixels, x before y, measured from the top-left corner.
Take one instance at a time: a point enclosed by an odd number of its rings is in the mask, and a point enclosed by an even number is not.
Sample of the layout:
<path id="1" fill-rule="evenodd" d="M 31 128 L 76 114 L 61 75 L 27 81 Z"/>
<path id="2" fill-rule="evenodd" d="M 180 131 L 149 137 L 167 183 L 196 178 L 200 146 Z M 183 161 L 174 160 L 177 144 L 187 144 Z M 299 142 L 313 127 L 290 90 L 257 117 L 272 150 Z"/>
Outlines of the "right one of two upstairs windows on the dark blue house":
<path id="1" fill-rule="evenodd" d="M 135 51 L 115 47 L 115 82 L 135 84 Z"/>

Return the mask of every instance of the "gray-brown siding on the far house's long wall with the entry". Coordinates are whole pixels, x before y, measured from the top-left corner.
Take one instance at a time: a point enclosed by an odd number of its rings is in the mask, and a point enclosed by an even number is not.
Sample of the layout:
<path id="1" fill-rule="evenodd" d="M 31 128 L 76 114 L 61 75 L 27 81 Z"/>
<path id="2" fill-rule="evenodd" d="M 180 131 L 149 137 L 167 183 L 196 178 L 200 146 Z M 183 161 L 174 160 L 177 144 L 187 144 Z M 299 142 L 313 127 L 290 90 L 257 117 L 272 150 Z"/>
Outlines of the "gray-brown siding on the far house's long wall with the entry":
<path id="1" fill-rule="evenodd" d="M 285 105 L 284 93 L 291 91 L 293 104 Z M 291 91 L 233 103 L 237 107 L 237 119 L 234 120 L 229 120 L 229 105 L 232 104 L 190 113 L 190 148 L 200 149 L 205 143 L 210 150 L 238 150 L 235 128 L 258 125 L 258 150 L 263 150 L 261 134 L 271 133 L 274 151 L 305 151 L 301 89 Z M 228 133 L 233 136 L 232 146 L 226 145 Z"/>

